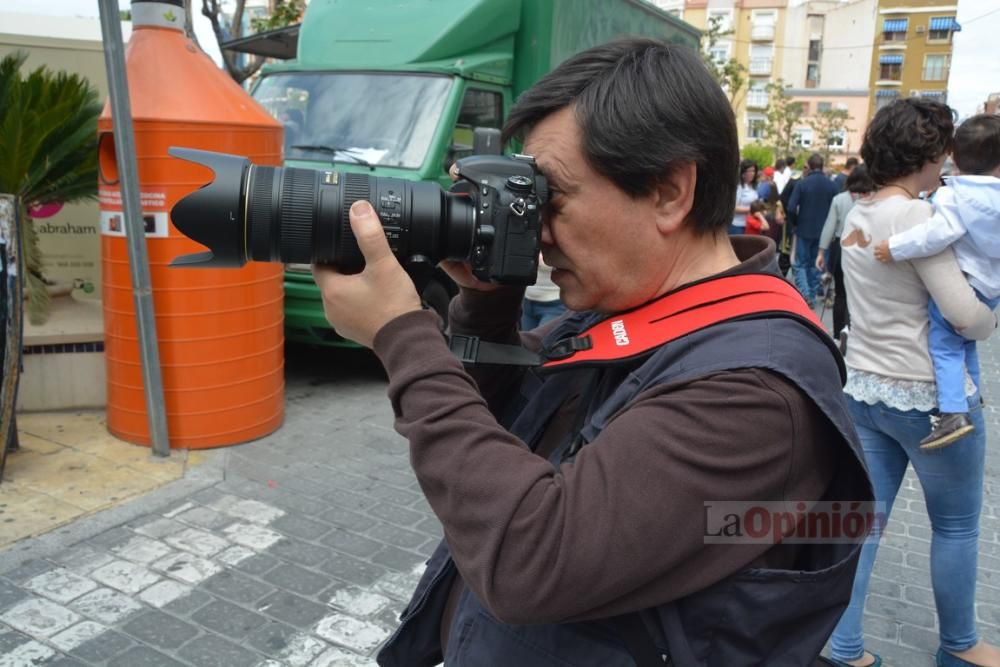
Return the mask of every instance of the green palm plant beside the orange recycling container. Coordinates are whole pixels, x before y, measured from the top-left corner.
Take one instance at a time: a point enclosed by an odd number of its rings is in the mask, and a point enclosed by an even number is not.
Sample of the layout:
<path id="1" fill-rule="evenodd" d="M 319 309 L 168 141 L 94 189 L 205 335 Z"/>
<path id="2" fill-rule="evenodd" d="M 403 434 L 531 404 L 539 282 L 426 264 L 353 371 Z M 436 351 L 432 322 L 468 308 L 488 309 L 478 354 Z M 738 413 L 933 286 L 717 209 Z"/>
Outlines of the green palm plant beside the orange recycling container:
<path id="1" fill-rule="evenodd" d="M 97 90 L 86 78 L 45 67 L 21 75 L 25 53 L 0 60 L 0 192 L 21 206 L 25 292 L 32 323 L 48 317 L 38 235 L 27 207 L 97 196 Z"/>

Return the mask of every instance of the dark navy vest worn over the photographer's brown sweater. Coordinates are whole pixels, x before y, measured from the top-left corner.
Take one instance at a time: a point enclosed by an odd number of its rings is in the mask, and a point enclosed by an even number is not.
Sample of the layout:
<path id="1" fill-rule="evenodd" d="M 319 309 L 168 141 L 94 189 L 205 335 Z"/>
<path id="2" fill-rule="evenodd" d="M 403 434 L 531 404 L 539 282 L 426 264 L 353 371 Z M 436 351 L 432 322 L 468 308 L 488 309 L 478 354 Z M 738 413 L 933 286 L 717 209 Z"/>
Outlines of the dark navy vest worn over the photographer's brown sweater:
<path id="1" fill-rule="evenodd" d="M 545 343 L 583 331 L 599 317 L 577 314 L 557 325 Z M 824 498 L 871 502 L 860 444 L 842 393 L 837 352 L 825 334 L 788 318 L 717 324 L 658 348 L 645 361 L 606 369 L 610 392 L 591 403 L 581 435 L 591 442 L 608 420 L 654 385 L 704 377 L 721 370 L 762 368 L 797 385 L 840 435 L 837 472 Z M 504 426 L 531 446 L 570 391 L 579 370 L 529 371 Z M 605 375 L 605 379 L 609 376 Z M 608 384 L 608 383 L 605 383 Z M 567 442 L 552 461 L 566 458 Z M 795 570 L 749 568 L 680 600 L 641 612 L 662 664 L 677 667 L 813 665 L 850 600 L 860 544 L 803 548 Z M 442 660 L 441 617 L 456 574 L 444 541 L 378 655 L 382 667 L 424 667 Z M 581 586 L 586 582 L 581 581 Z M 495 619 L 465 588 L 455 610 L 448 667 L 633 667 L 619 626 L 586 621 L 508 625 Z M 645 638 L 646 635 L 644 635 Z"/>

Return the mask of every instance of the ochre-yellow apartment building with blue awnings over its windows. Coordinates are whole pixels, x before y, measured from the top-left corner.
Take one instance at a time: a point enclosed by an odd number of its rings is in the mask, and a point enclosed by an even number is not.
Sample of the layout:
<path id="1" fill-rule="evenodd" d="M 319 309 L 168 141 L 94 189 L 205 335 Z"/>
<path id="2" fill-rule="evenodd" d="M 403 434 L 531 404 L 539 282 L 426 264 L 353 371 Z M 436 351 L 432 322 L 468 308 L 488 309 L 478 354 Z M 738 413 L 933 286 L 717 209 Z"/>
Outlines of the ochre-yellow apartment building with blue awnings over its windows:
<path id="1" fill-rule="evenodd" d="M 941 0 L 878 0 L 869 117 L 903 97 L 947 102 L 957 10 Z"/>

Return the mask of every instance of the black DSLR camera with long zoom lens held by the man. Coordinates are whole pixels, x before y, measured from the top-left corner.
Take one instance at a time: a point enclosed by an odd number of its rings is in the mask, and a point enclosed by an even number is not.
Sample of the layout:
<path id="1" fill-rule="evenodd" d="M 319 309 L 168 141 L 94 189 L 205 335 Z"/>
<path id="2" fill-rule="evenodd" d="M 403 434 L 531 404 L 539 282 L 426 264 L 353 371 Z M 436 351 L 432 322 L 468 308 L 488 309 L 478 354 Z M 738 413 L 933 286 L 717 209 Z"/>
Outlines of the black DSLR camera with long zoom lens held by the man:
<path id="1" fill-rule="evenodd" d="M 171 266 L 240 267 L 253 260 L 329 264 L 357 273 L 364 257 L 348 212 L 366 199 L 393 254 L 411 273 L 459 260 L 483 281 L 535 281 L 548 185 L 529 156 L 459 160 L 459 179 L 445 191 L 399 178 L 255 165 L 191 148 L 169 152 L 215 174 L 171 211 L 174 226 L 208 251 L 177 257 Z"/>

